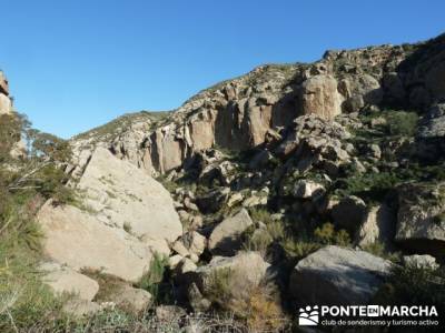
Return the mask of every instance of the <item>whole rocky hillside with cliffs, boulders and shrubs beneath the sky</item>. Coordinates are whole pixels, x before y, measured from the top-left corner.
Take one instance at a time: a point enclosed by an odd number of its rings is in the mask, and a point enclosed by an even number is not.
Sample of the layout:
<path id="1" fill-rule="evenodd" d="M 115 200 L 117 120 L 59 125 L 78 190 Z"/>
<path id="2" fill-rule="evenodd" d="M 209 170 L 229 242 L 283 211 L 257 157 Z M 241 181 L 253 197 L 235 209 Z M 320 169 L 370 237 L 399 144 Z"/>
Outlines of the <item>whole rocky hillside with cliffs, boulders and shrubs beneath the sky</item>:
<path id="1" fill-rule="evenodd" d="M 38 209 L 43 282 L 76 293 L 65 312 L 177 331 L 290 331 L 316 304 L 443 312 L 444 135 L 445 36 L 261 65 L 122 115 L 56 161 L 76 200 Z"/>

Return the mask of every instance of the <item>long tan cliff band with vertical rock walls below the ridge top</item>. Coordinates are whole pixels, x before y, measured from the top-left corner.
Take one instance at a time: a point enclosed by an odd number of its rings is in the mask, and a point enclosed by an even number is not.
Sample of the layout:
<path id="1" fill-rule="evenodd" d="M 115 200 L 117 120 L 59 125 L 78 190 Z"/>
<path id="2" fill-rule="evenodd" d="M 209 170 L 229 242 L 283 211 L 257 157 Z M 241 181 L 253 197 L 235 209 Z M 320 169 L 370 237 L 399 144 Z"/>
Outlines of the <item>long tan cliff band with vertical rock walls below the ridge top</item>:
<path id="1" fill-rule="evenodd" d="M 72 139 L 82 159 L 97 144 L 150 174 L 180 167 L 212 147 L 260 145 L 295 118 L 330 120 L 364 108 L 425 110 L 445 98 L 445 36 L 418 44 L 327 51 L 310 64 L 261 65 L 209 88 L 161 120 L 128 115 L 120 131 Z M 82 153 L 81 153 L 82 152 Z"/>

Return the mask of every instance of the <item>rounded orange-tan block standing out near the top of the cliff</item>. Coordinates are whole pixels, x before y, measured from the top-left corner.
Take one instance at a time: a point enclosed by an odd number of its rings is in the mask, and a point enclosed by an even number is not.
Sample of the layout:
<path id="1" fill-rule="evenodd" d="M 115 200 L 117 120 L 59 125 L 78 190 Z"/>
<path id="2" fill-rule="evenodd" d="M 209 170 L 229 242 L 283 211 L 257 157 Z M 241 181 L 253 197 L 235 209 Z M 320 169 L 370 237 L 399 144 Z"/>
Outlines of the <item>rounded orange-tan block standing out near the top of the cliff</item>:
<path id="1" fill-rule="evenodd" d="M 343 98 L 337 91 L 337 80 L 332 75 L 319 74 L 301 84 L 301 109 L 304 114 L 316 114 L 333 119 L 342 113 Z"/>

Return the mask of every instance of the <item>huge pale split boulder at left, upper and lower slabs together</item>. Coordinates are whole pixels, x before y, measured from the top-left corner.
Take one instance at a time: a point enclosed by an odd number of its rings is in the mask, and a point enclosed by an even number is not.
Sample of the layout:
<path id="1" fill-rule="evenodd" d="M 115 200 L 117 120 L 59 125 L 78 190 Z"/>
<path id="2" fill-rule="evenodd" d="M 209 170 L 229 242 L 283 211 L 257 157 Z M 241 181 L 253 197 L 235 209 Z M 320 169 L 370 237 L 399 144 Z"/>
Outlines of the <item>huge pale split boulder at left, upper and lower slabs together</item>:
<path id="1" fill-rule="evenodd" d="M 165 252 L 182 233 L 169 193 L 105 149 L 95 151 L 77 190 L 83 196 L 80 208 L 48 202 L 38 214 L 46 254 L 75 270 L 102 270 L 137 282 L 152 253 Z"/>

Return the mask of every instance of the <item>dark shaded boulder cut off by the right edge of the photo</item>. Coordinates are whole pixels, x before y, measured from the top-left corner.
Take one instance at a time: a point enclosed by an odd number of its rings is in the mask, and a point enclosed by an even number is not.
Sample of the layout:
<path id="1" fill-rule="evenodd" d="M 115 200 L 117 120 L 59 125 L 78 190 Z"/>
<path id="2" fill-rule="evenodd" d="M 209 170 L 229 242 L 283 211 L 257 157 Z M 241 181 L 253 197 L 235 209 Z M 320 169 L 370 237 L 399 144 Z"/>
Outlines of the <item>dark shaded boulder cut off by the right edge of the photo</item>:
<path id="1" fill-rule="evenodd" d="M 409 183 L 398 189 L 395 240 L 419 253 L 445 253 L 445 183 Z"/>

